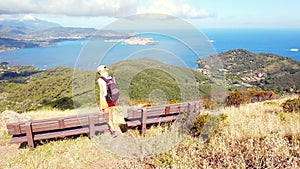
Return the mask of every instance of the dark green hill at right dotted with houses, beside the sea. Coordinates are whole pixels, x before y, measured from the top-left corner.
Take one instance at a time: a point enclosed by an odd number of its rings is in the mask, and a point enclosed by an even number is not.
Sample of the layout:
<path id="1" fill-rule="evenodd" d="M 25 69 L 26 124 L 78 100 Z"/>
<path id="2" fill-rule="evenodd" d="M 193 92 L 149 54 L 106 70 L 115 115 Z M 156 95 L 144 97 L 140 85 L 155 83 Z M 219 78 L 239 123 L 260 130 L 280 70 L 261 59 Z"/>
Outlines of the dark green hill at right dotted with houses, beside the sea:
<path id="1" fill-rule="evenodd" d="M 300 89 L 300 62 L 274 54 L 255 54 L 236 49 L 198 60 L 201 71 L 207 71 L 207 59 L 218 57 L 228 88 L 256 88 L 277 93 Z M 209 70 L 208 70 L 209 71 Z"/>

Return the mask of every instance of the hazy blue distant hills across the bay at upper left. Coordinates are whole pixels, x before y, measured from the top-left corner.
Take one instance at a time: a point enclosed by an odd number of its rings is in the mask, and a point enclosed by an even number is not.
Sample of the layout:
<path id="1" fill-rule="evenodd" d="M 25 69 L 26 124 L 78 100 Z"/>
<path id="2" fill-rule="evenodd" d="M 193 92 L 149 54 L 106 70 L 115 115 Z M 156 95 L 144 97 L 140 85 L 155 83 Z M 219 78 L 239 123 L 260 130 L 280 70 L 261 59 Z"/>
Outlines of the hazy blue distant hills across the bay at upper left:
<path id="1" fill-rule="evenodd" d="M 0 21 L 0 52 L 19 48 L 56 45 L 66 40 L 120 39 L 134 33 L 94 28 L 62 27 L 43 20 Z"/>

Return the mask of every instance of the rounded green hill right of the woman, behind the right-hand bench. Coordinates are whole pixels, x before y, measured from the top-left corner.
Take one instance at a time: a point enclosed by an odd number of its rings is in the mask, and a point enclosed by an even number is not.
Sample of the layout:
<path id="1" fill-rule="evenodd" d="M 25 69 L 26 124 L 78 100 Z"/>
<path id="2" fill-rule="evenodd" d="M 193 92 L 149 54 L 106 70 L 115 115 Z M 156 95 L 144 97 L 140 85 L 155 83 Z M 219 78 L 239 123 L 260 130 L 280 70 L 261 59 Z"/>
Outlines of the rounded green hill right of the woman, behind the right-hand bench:
<path id="1" fill-rule="evenodd" d="M 166 65 L 162 62 L 142 58 L 137 60 L 127 60 L 112 64 L 112 72 L 117 78 L 121 94 L 128 98 L 140 100 L 155 96 L 155 91 L 163 91 L 167 100 L 184 100 L 184 95 L 194 95 L 197 97 L 208 93 L 210 90 L 210 80 L 199 72 L 186 67 Z M 200 83 L 201 82 L 201 83 Z M 195 86 L 200 85 L 202 87 Z M 188 93 L 192 89 L 193 91 Z M 155 90 L 155 91 L 154 91 Z M 150 93 L 153 92 L 154 93 Z M 187 91 L 185 93 L 180 93 Z M 190 98 L 191 99 L 191 98 Z"/>

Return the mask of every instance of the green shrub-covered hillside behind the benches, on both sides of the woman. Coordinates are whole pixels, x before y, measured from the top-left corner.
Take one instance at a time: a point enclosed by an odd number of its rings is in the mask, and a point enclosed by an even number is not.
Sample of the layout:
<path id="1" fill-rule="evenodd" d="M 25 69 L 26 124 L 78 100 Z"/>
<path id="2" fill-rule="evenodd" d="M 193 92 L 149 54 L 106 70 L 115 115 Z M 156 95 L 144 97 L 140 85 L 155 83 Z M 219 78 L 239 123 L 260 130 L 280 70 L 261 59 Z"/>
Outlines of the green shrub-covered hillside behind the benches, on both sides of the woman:
<path id="1" fill-rule="evenodd" d="M 145 69 L 147 65 L 152 66 Z M 211 82 L 199 72 L 150 59 L 128 60 L 109 67 L 120 89 L 119 104 L 131 100 L 193 100 L 210 90 Z M 31 66 L 6 67 L 0 71 L 0 112 L 5 109 L 25 112 L 96 105 L 96 79 L 99 75 L 95 71 L 76 70 L 76 75 L 74 72 L 68 67 L 48 70 Z"/>

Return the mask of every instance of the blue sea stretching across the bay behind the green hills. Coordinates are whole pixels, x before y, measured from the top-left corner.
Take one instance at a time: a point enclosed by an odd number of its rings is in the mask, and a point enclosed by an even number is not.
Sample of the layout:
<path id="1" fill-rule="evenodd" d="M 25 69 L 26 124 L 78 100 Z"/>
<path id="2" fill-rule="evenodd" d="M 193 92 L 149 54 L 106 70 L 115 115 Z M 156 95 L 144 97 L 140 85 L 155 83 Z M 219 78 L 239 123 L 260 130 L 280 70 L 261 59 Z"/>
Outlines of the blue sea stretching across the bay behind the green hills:
<path id="1" fill-rule="evenodd" d="M 30 65 L 42 70 L 57 66 L 95 70 L 100 64 L 152 58 L 171 65 L 196 68 L 198 59 L 232 49 L 300 60 L 299 29 L 204 29 L 192 33 L 177 31 L 175 34 L 148 32 L 137 36 L 151 38 L 157 44 L 64 41 L 55 46 L 1 52 L 0 62 L 8 62 L 9 66 Z"/>

